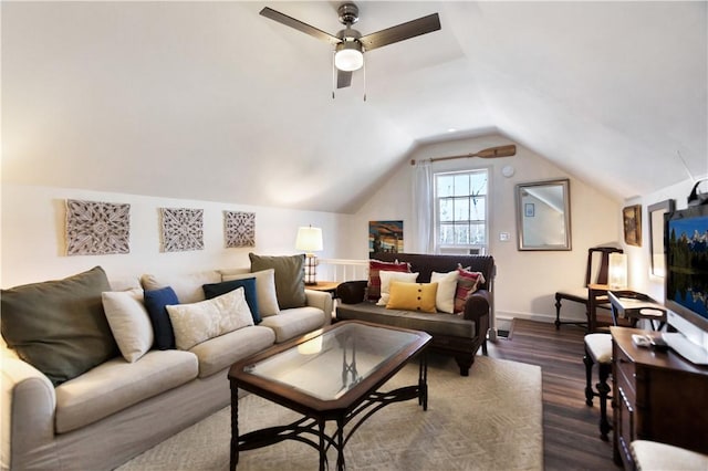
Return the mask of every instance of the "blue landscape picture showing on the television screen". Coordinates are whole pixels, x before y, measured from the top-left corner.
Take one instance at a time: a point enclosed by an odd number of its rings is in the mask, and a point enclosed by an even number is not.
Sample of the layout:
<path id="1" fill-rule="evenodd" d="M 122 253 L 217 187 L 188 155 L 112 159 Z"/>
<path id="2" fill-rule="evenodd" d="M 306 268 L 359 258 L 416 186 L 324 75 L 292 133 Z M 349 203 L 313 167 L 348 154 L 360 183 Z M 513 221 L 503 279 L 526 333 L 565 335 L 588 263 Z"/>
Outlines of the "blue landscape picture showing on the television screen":
<path id="1" fill-rule="evenodd" d="M 667 297 L 708 318 L 708 216 L 670 220 Z"/>

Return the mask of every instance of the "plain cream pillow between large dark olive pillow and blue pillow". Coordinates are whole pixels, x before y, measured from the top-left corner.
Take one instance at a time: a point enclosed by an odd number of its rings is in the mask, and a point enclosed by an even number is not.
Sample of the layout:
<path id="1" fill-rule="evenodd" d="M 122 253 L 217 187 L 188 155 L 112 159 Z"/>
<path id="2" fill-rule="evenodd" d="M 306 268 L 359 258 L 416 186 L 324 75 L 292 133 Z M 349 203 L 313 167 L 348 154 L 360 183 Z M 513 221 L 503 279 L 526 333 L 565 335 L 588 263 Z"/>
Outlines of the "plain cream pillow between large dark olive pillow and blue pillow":
<path id="1" fill-rule="evenodd" d="M 129 363 L 136 362 L 153 347 L 155 339 L 143 304 L 143 290 L 104 291 L 101 300 L 121 355 Z"/>

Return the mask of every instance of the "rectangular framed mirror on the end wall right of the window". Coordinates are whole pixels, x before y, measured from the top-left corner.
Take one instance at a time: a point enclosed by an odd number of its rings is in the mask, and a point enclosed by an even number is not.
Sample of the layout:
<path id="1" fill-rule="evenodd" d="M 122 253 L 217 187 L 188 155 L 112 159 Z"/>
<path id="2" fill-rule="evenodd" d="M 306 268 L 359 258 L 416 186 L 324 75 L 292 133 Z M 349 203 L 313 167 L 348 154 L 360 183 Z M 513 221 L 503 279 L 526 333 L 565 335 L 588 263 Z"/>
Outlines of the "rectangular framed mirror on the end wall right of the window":
<path id="1" fill-rule="evenodd" d="M 570 180 L 517 185 L 519 250 L 571 250 Z"/>

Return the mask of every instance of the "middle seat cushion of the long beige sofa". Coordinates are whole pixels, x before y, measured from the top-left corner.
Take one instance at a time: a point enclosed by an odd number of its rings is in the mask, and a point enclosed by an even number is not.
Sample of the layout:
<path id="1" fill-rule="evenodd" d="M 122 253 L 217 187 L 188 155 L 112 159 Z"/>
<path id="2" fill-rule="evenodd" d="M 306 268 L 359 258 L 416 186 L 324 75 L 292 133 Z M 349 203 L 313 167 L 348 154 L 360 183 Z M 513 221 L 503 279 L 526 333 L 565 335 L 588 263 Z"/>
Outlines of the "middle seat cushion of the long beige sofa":
<path id="1" fill-rule="evenodd" d="M 199 359 L 199 377 L 206 378 L 270 347 L 274 342 L 275 333 L 272 329 L 254 325 L 202 342 L 189 352 Z"/>

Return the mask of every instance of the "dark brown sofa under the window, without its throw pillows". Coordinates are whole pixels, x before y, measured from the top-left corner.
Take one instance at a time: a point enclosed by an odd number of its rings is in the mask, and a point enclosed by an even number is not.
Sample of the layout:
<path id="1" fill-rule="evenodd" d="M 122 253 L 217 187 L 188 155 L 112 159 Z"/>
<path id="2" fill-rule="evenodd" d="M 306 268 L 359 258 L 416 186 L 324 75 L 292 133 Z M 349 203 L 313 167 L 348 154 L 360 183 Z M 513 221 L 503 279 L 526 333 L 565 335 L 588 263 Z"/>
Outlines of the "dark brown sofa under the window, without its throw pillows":
<path id="1" fill-rule="evenodd" d="M 337 320 L 360 320 L 377 324 L 425 331 L 433 336 L 433 350 L 451 355 L 461 376 L 469 375 L 475 355 L 482 347 L 487 354 L 487 331 L 493 306 L 494 259 L 489 255 L 427 255 L 418 253 L 374 253 L 372 259 L 385 262 L 408 262 L 410 271 L 419 273 L 417 282 L 428 283 L 433 272 L 445 273 L 458 268 L 481 272 L 485 283 L 469 296 L 460 314 L 419 313 L 389 310 L 365 300 L 366 280 L 348 281 L 337 287 Z"/>

